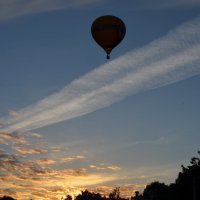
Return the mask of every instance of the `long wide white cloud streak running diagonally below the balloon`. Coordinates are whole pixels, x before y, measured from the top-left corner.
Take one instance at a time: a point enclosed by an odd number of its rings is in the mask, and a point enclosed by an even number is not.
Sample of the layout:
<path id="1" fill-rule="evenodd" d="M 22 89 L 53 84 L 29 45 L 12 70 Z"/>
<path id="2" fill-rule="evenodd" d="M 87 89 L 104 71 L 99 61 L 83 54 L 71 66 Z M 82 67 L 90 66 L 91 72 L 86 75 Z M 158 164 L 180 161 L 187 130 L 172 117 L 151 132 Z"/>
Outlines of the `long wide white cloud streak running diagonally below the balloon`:
<path id="1" fill-rule="evenodd" d="M 28 131 L 69 120 L 124 99 L 200 74 L 200 17 L 126 53 L 18 111 L 2 132 Z"/>

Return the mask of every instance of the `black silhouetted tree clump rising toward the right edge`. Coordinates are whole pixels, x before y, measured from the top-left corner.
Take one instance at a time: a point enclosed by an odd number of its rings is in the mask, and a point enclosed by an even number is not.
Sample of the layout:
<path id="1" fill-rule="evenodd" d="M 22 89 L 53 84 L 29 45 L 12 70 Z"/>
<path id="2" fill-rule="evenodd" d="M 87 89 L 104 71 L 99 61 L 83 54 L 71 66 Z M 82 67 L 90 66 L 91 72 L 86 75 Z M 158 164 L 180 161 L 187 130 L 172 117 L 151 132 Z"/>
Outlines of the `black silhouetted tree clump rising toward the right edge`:
<path id="1" fill-rule="evenodd" d="M 200 158 L 193 157 L 190 164 L 181 166 L 175 183 L 168 186 L 153 182 L 146 186 L 143 194 L 136 192 L 132 200 L 200 200 Z"/>

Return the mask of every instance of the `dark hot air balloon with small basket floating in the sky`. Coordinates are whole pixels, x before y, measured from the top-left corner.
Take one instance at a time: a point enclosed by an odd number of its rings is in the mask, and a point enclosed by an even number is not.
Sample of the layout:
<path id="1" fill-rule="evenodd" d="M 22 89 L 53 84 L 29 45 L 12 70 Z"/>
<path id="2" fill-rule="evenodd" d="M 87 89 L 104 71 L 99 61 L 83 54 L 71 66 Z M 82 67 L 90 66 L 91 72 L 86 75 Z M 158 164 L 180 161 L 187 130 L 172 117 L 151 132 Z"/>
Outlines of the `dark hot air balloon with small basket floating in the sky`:
<path id="1" fill-rule="evenodd" d="M 123 40 L 126 27 L 118 17 L 105 15 L 94 20 L 91 33 L 97 44 L 105 50 L 107 59 L 109 59 L 113 48 Z"/>

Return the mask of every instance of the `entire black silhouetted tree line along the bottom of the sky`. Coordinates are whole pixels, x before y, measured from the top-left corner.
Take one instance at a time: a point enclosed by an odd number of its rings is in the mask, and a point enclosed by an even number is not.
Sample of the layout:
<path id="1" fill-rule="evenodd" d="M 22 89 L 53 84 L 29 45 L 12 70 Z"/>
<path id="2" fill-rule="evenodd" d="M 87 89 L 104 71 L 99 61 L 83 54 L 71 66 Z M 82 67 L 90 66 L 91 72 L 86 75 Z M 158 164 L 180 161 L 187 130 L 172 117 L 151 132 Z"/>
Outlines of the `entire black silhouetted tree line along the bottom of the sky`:
<path id="1" fill-rule="evenodd" d="M 174 183 L 166 185 L 158 181 L 148 184 L 144 191 L 140 193 L 135 192 L 133 197 L 129 200 L 200 200 L 200 151 L 199 157 L 192 157 L 190 165 L 187 167 L 181 166 L 182 170 L 179 172 Z M 71 195 L 61 200 L 72 200 Z M 0 197 L 0 200 L 16 200 L 9 196 Z M 82 191 L 74 200 L 128 200 L 120 196 L 120 187 L 116 187 L 108 195 L 102 196 L 99 193 Z"/>

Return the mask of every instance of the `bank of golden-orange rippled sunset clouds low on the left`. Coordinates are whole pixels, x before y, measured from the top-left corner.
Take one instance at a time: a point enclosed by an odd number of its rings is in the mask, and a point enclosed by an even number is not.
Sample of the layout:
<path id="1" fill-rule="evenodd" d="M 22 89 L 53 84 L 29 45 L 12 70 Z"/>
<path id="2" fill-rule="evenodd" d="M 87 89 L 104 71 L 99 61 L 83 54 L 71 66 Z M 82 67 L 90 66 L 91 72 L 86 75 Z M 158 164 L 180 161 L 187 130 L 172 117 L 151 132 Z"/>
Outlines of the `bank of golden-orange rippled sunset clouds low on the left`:
<path id="1" fill-rule="evenodd" d="M 31 139 L 29 145 L 12 143 L 23 135 Z M 72 147 L 47 145 L 45 138 L 35 132 L 1 133 L 1 138 L 13 145 L 0 149 L 0 194 L 16 199 L 61 199 L 66 193 L 78 194 L 120 178 L 120 168 L 113 164 L 100 164 L 104 170 L 92 169 L 88 156 L 82 151 L 77 153 L 77 146 L 73 147 L 76 153 L 72 153 Z"/>

